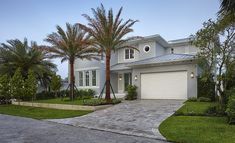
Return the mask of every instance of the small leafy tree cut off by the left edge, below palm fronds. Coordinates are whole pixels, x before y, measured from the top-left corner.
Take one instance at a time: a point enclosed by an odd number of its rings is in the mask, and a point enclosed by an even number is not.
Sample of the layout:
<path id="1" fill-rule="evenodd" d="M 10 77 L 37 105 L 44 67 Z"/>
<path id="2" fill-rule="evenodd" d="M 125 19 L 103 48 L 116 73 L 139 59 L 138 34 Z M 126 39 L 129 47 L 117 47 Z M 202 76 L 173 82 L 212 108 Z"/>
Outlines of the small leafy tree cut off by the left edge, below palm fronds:
<path id="1" fill-rule="evenodd" d="M 10 99 L 10 78 L 8 75 L 0 76 L 0 97 Z"/>

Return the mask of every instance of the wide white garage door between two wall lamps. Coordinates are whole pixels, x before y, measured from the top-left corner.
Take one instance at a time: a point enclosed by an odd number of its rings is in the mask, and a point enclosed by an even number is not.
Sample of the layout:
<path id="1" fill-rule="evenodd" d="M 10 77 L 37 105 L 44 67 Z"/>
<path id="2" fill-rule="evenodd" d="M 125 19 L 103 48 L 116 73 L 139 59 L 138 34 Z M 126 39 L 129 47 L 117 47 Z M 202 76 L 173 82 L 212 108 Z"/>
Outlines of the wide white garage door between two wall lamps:
<path id="1" fill-rule="evenodd" d="M 187 99 L 187 72 L 141 74 L 142 99 Z"/>

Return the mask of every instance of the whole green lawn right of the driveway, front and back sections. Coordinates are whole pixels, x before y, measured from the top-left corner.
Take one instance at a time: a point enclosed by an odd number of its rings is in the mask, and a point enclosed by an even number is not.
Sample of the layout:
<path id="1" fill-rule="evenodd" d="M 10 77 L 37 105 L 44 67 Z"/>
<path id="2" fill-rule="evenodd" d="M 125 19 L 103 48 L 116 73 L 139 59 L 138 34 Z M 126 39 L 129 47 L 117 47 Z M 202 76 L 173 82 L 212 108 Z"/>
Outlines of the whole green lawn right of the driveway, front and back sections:
<path id="1" fill-rule="evenodd" d="M 159 131 L 172 142 L 235 143 L 235 125 L 229 125 L 226 117 L 206 116 L 213 106 L 216 103 L 185 102 L 175 115 L 161 123 Z"/>

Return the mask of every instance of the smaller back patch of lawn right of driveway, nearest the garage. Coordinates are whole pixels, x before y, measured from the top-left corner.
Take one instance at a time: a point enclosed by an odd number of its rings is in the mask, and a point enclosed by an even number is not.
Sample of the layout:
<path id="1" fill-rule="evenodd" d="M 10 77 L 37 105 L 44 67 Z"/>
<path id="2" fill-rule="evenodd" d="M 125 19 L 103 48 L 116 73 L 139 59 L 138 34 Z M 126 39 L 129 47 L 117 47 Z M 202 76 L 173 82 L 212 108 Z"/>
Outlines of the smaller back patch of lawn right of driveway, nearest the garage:
<path id="1" fill-rule="evenodd" d="M 176 111 L 176 115 L 205 115 L 210 107 L 216 106 L 213 102 L 185 102 L 185 104 Z"/>

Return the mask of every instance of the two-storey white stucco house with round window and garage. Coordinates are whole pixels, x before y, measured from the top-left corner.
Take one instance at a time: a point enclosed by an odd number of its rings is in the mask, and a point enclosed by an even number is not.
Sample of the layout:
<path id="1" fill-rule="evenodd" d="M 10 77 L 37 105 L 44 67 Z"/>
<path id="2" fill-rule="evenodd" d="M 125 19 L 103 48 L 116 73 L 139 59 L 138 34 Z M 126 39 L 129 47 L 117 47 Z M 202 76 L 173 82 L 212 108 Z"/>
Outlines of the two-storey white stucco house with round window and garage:
<path id="1" fill-rule="evenodd" d="M 134 49 L 118 49 L 111 58 L 111 84 L 125 95 L 129 84 L 138 87 L 139 99 L 188 99 L 197 96 L 198 48 L 189 38 L 166 41 L 160 35 L 130 41 Z M 105 60 L 75 61 L 75 84 L 97 95 L 105 83 Z"/>

